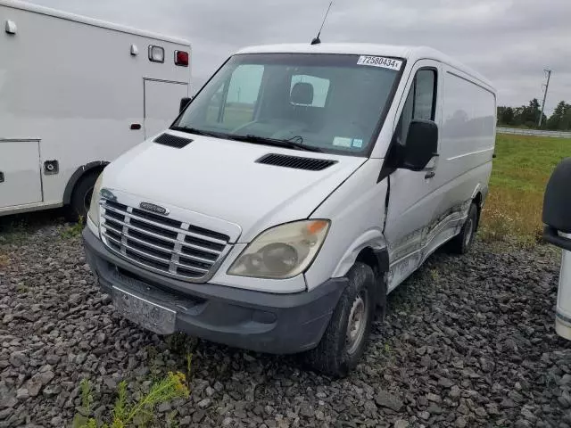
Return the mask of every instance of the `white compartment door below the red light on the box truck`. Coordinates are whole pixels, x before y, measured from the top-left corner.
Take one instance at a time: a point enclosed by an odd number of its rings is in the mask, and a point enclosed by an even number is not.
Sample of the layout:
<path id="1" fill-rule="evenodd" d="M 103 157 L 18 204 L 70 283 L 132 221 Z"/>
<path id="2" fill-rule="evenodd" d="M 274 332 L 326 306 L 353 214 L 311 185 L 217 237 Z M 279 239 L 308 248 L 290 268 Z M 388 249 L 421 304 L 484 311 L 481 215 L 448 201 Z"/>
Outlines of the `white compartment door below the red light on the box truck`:
<path id="1" fill-rule="evenodd" d="M 145 139 L 169 128 L 177 119 L 180 99 L 188 96 L 188 84 L 145 78 Z"/>

